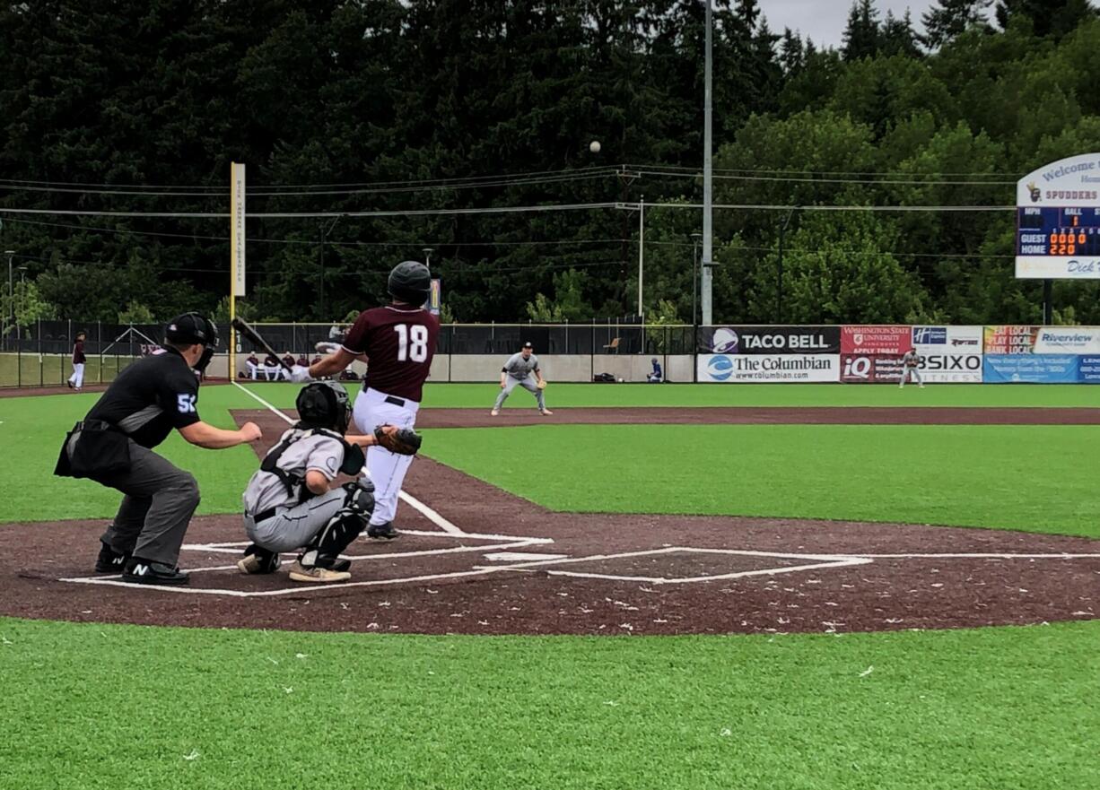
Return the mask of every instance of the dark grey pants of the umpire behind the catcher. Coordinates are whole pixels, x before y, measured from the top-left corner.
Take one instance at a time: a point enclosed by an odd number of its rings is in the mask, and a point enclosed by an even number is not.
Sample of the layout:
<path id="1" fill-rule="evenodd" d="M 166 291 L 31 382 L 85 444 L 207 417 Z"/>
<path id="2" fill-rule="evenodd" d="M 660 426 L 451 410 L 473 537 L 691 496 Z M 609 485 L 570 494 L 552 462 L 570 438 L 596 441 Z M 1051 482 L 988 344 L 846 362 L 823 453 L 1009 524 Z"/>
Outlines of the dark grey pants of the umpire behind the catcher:
<path id="1" fill-rule="evenodd" d="M 130 461 L 129 471 L 97 478 L 125 494 L 100 539 L 119 554 L 175 566 L 199 507 L 199 485 L 190 472 L 133 441 Z"/>

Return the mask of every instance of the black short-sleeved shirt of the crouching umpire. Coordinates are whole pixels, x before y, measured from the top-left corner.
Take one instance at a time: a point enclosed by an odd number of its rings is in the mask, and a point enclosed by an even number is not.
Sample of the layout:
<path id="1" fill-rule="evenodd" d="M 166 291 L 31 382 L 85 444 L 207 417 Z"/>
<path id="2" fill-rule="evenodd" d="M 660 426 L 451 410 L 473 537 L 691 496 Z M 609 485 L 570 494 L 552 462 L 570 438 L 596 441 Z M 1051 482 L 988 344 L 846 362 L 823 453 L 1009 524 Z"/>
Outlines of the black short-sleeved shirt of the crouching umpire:
<path id="1" fill-rule="evenodd" d="M 127 367 L 88 412 L 125 431 L 142 447 L 156 447 L 173 429 L 199 421 L 199 381 L 175 348 L 157 351 Z"/>

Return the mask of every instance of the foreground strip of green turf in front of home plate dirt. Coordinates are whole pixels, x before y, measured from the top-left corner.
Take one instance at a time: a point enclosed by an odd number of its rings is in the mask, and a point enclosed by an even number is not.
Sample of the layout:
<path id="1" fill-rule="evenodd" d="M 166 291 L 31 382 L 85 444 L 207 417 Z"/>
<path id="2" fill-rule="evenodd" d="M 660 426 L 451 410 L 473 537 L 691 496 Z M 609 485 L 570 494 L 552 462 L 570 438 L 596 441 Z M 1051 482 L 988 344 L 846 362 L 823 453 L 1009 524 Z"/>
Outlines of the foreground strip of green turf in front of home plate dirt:
<path id="1" fill-rule="evenodd" d="M 418 637 L 0 620 L 0 787 L 1100 787 L 1100 623 Z"/>

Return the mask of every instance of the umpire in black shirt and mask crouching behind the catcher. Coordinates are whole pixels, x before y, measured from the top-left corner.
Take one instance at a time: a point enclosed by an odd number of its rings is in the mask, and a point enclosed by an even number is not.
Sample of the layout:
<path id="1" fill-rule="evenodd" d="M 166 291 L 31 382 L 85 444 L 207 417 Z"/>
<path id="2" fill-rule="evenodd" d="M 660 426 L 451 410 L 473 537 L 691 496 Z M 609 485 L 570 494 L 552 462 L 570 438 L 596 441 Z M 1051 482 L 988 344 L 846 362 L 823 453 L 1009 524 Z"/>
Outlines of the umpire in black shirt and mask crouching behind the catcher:
<path id="1" fill-rule="evenodd" d="M 172 430 L 209 449 L 262 438 L 255 423 L 222 431 L 198 415 L 199 376 L 218 347 L 218 327 L 198 313 L 168 324 L 164 347 L 114 379 L 65 437 L 55 475 L 87 477 L 123 494 L 100 541 L 96 571 L 143 585 L 186 585 L 176 565 L 199 503 L 195 478 L 153 452 Z"/>

